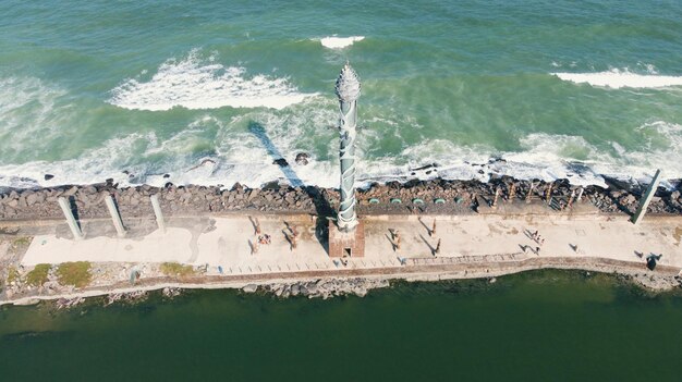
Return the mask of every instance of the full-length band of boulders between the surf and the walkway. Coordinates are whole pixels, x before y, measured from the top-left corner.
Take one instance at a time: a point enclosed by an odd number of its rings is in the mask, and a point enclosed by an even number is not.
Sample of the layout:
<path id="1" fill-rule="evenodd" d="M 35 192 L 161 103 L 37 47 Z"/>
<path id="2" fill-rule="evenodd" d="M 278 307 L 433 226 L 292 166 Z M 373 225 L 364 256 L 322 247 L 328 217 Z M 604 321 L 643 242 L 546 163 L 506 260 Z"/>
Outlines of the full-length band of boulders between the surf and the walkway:
<path id="1" fill-rule="evenodd" d="M 679 189 L 658 189 L 649 205 L 649 212 L 682 213 Z M 604 212 L 634 212 L 644 187 L 611 183 L 609 188 L 598 186 L 579 187 L 568 180 L 555 182 L 519 181 L 509 176 L 478 181 L 407 181 L 405 183 L 375 183 L 367 189 L 357 190 L 360 213 L 405 213 L 405 205 L 414 208 L 414 200 L 424 204 L 422 212 L 458 213 L 472 212 L 480 204 L 499 200 L 524 200 L 528 193 L 533 199 L 547 199 L 552 207 L 562 210 L 582 189 L 583 202 L 590 201 Z M 119 188 L 111 181 L 85 186 L 58 186 L 36 189 L 4 189 L 0 194 L 0 220 L 62 219 L 58 198 L 66 198 L 80 219 L 109 218 L 105 198 L 111 195 L 125 218 L 154 217 L 149 196 L 158 195 L 161 208 L 168 215 L 196 213 L 229 213 L 235 211 L 260 211 L 268 213 L 293 212 L 331 215 L 339 204 L 339 193 L 331 188 L 314 186 L 289 187 L 277 183 L 261 188 L 248 188 L 239 183 L 231 188 L 222 186 L 142 185 Z M 401 204 L 391 202 L 400 199 Z M 436 201 L 440 201 L 437 204 Z M 428 206 L 428 210 L 427 210 Z"/>

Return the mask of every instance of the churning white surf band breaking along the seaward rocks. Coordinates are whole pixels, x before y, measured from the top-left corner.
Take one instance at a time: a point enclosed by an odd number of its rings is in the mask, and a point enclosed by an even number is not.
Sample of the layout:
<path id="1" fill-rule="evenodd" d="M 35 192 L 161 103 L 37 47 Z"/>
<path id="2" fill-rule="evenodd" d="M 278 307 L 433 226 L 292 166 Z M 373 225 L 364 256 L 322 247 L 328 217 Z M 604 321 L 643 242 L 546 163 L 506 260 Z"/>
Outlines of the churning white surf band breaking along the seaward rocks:
<path id="1" fill-rule="evenodd" d="M 337 118 L 330 108 L 327 109 L 302 107 L 305 111 L 295 120 L 291 115 L 267 111 L 229 122 L 207 115 L 165 139 L 154 133 L 135 133 L 109 139 L 102 147 L 89 150 L 78 159 L 0 165 L 0 186 L 87 184 L 111 177 L 121 186 L 162 186 L 172 182 L 230 187 L 239 182 L 258 187 L 279 181 L 291 185 L 334 187 L 339 182 L 338 133 L 319 131 L 320 126 L 333 124 Z M 235 132 L 235 126 L 243 124 L 248 127 Z M 215 137 L 203 135 L 209 126 L 217 130 Z M 314 130 L 317 130 L 315 134 Z M 393 156 L 366 159 L 368 147 L 363 141 L 373 140 L 376 133 L 361 131 L 357 185 L 436 177 L 487 181 L 491 175 L 509 175 L 522 180 L 568 178 L 574 185 L 606 186 L 604 175 L 646 183 L 656 169 L 661 169 L 666 178 L 681 178 L 682 162 L 671 159 L 682 158 L 682 125 L 655 121 L 640 126 L 638 133 L 643 136 L 643 145 L 635 150 L 624 150 L 613 143 L 614 150 L 607 152 L 580 136 L 534 133 L 521 140 L 522 150 L 513 152 L 499 152 L 483 145 L 462 147 L 444 139 L 427 139 Z M 328 145 L 312 149 L 314 141 L 320 139 L 328 140 Z M 197 156 L 193 145 L 211 140 L 218 143 L 215 150 Z M 143 159 L 126 164 L 135 156 L 133 147 L 143 147 Z M 165 157 L 162 162 L 151 160 L 168 151 L 174 155 Z M 294 161 L 296 153 L 302 151 L 310 155 L 307 165 Z M 290 167 L 272 164 L 278 158 L 284 158 Z M 425 168 L 428 164 L 436 165 Z M 44 181 L 46 173 L 54 177 Z"/>

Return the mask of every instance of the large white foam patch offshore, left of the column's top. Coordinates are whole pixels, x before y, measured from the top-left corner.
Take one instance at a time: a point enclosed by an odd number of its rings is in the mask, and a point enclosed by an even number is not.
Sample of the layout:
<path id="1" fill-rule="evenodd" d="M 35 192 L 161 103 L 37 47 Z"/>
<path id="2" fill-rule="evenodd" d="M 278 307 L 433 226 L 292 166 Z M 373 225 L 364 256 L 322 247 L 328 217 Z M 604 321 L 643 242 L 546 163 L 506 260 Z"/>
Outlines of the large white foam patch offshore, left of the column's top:
<path id="1" fill-rule="evenodd" d="M 162 63 L 148 81 L 131 78 L 115 87 L 109 103 L 139 110 L 216 109 L 221 107 L 283 109 L 314 94 L 300 93 L 287 78 L 248 76 L 241 66 L 223 66 L 197 50 Z"/>

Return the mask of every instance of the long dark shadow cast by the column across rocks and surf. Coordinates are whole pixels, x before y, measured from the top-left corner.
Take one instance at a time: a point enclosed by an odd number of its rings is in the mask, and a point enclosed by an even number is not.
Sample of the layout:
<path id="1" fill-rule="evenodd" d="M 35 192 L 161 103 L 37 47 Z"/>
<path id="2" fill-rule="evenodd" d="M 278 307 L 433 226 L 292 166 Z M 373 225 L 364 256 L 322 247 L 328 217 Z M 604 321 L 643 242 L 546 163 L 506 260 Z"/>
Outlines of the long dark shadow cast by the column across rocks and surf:
<path id="1" fill-rule="evenodd" d="M 320 193 L 320 190 L 317 187 L 309 186 L 303 183 L 303 181 L 299 177 L 299 175 L 296 175 L 293 169 L 288 163 L 284 162 L 284 157 L 279 151 L 277 146 L 275 146 L 275 144 L 272 143 L 272 140 L 268 136 L 268 133 L 265 131 L 265 127 L 261 124 L 251 121 L 248 123 L 248 131 L 253 135 L 255 135 L 256 138 L 258 138 L 258 140 L 260 140 L 260 143 L 263 144 L 263 147 L 265 147 L 268 155 L 272 157 L 272 159 L 276 162 L 280 163 L 279 167 L 282 170 L 282 173 L 284 174 L 287 180 L 289 181 L 289 184 L 292 187 L 301 187 L 301 189 L 304 190 L 308 195 L 310 200 L 313 200 L 313 205 L 315 206 L 315 213 L 317 215 L 317 222 L 315 224 L 315 237 L 317 238 L 319 244 L 322 246 L 325 251 L 329 254 L 329 243 L 328 243 L 329 234 L 328 234 L 328 223 L 327 223 L 328 219 L 327 218 L 332 218 L 334 215 L 334 210 L 329 205 L 329 201 L 327 200 L 325 195 Z"/>

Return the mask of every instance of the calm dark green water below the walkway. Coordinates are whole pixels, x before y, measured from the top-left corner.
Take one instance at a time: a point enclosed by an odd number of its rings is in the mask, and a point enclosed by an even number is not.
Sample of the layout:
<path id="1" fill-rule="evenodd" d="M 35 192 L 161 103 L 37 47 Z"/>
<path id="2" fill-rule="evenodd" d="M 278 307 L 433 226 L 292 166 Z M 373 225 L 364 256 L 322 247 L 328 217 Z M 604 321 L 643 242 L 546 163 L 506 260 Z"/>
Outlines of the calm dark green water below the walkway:
<path id="1" fill-rule="evenodd" d="M 404 284 L 332 300 L 210 291 L 94 304 L 2 309 L 0 380 L 680 379 L 682 297 L 605 275 Z"/>

